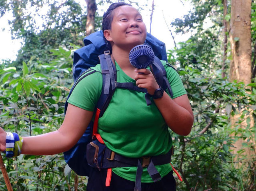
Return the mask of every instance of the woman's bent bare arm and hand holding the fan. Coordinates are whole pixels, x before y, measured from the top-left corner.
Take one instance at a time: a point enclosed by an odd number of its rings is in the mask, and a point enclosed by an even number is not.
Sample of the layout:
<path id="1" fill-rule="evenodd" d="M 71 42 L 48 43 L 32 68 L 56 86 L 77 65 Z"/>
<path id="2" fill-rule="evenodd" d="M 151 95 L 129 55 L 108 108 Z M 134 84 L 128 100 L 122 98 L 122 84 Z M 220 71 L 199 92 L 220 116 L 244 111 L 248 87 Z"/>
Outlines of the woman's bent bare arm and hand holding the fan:
<path id="1" fill-rule="evenodd" d="M 153 95 L 159 85 L 156 83 L 152 72 L 148 69 L 136 69 L 136 72 L 138 72 L 135 77 L 136 85 L 140 88 L 146 88 L 148 93 Z M 184 136 L 190 133 L 194 116 L 186 94 L 172 99 L 164 92 L 164 95 L 161 98 L 154 99 L 154 102 L 166 124 L 175 133 Z"/>

